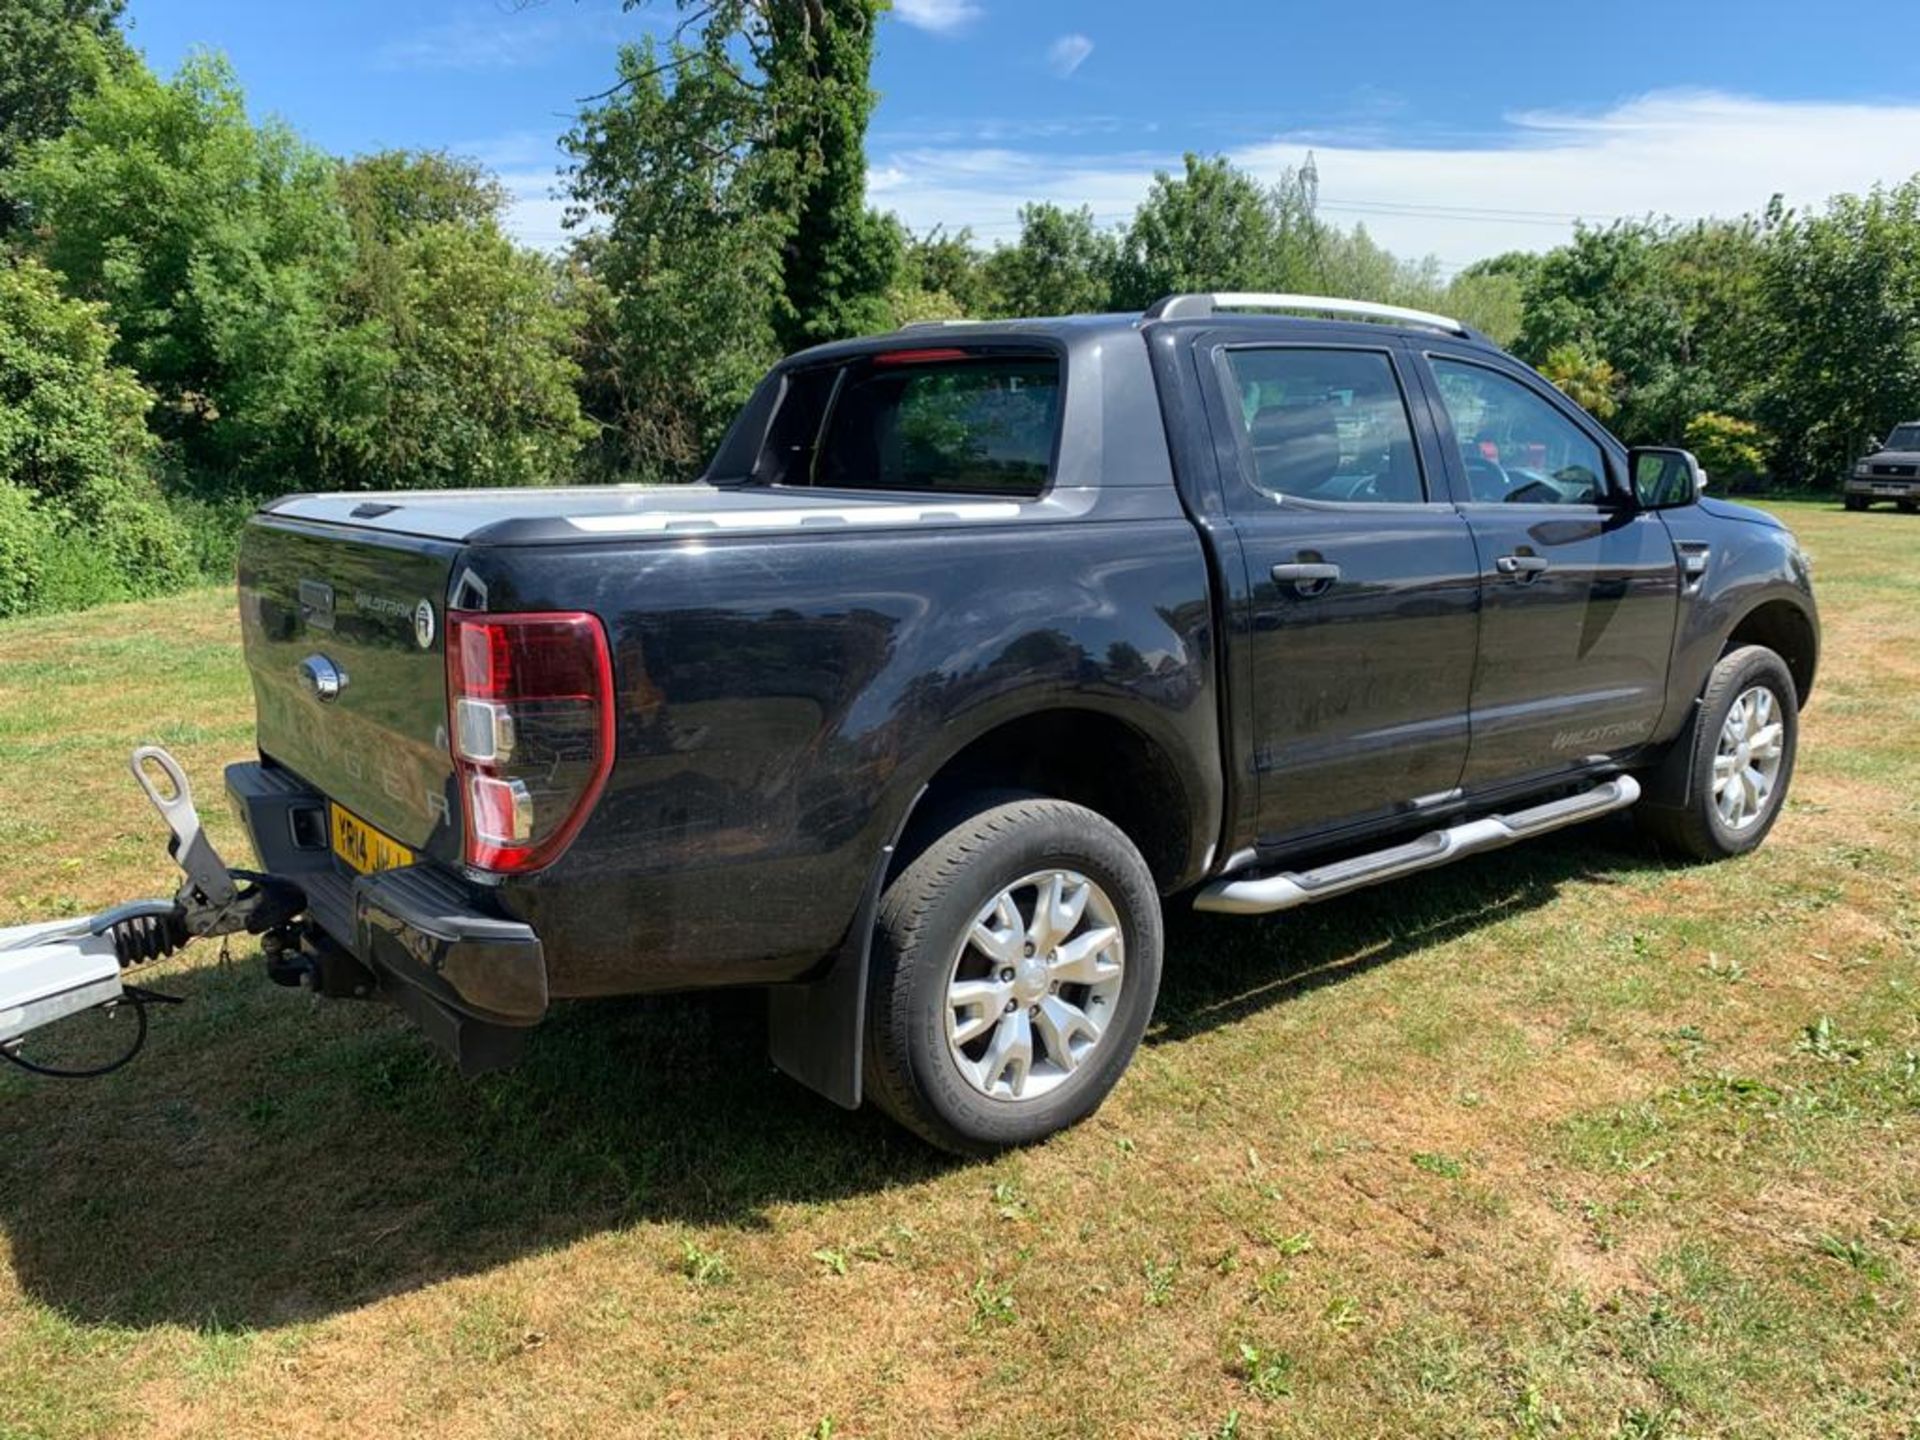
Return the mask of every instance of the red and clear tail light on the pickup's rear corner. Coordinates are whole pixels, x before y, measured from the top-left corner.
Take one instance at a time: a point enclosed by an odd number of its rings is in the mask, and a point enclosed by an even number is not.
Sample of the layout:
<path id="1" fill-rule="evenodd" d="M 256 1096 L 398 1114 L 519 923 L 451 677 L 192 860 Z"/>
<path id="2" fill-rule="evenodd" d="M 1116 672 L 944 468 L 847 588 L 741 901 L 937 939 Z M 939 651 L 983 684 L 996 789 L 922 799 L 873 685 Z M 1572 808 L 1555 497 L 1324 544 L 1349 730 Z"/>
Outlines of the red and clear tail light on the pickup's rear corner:
<path id="1" fill-rule="evenodd" d="M 612 660 L 591 614 L 447 614 L 467 864 L 524 874 L 572 843 L 612 770 Z"/>

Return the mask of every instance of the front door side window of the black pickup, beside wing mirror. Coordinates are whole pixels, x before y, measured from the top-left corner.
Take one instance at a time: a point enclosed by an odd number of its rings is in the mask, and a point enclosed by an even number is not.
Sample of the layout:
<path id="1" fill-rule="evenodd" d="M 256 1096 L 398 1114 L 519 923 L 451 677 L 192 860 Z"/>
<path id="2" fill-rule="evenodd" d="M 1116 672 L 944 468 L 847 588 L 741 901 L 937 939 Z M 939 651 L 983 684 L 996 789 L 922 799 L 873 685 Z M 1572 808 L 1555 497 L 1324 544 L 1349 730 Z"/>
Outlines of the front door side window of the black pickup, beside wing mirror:
<path id="1" fill-rule="evenodd" d="M 1482 365 L 1432 359 L 1476 505 L 1599 505 L 1607 461 L 1580 426 Z"/>

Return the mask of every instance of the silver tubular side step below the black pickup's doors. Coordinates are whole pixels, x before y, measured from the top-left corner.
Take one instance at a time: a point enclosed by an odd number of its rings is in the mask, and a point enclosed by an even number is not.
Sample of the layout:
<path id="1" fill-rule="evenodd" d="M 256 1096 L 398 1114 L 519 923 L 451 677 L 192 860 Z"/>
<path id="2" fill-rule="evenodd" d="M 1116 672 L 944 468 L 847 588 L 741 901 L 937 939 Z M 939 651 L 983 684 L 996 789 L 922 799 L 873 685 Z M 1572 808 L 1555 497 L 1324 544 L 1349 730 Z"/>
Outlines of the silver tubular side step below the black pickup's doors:
<path id="1" fill-rule="evenodd" d="M 1498 851 L 1515 841 L 1546 835 L 1549 829 L 1578 826 L 1582 820 L 1624 810 L 1638 799 L 1640 781 L 1632 776 L 1615 776 L 1603 785 L 1536 804 L 1530 810 L 1463 820 L 1446 829 L 1432 829 L 1405 845 L 1356 854 L 1352 860 L 1336 860 L 1319 870 L 1286 870 L 1254 879 L 1219 879 L 1200 891 L 1194 910 L 1213 910 L 1227 916 L 1292 910 L 1309 900 L 1327 900 L 1365 885 L 1379 885 L 1382 879 L 1411 876 L 1415 870 L 1432 870 L 1469 854 Z"/>

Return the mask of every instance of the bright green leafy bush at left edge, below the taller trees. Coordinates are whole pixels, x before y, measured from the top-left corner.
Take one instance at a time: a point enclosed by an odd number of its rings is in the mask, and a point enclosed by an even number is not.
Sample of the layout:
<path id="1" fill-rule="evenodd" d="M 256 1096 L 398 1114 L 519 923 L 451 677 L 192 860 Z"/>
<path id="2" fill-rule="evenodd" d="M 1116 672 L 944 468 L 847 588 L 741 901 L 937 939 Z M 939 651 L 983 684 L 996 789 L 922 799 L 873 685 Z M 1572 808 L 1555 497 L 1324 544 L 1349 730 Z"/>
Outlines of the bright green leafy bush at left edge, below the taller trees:
<path id="1" fill-rule="evenodd" d="M 36 261 L 0 263 L 0 614 L 146 595 L 188 574 L 148 472 L 152 401 L 109 361 L 98 305 Z M 69 591 L 50 593 L 56 572 Z"/>

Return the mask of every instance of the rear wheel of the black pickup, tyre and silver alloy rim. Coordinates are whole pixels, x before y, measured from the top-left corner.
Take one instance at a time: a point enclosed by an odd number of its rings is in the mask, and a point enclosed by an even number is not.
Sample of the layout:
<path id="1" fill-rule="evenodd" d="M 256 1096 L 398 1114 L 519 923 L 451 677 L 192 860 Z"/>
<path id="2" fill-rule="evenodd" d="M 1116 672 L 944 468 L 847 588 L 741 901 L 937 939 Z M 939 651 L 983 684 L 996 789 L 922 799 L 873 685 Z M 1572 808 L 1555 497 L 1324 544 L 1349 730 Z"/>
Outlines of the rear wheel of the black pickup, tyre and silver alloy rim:
<path id="1" fill-rule="evenodd" d="M 866 1092 L 956 1154 L 1066 1129 L 1133 1060 L 1160 952 L 1154 876 L 1117 826 L 995 797 L 881 897 Z"/>

